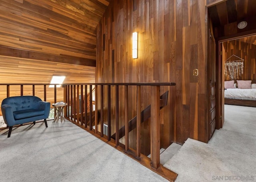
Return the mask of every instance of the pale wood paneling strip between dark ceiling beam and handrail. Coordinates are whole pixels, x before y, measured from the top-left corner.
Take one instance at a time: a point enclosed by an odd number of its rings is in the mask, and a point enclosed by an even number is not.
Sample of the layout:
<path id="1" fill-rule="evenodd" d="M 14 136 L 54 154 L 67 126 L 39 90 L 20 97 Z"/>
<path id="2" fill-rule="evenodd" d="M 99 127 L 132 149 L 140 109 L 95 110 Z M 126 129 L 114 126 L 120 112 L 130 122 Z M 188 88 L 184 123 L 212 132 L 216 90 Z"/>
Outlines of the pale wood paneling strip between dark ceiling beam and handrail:
<path id="1" fill-rule="evenodd" d="M 95 68 L 65 63 L 4 57 L 0 55 L 0 83 L 49 84 L 53 75 L 66 76 L 66 83 L 95 81 Z"/>

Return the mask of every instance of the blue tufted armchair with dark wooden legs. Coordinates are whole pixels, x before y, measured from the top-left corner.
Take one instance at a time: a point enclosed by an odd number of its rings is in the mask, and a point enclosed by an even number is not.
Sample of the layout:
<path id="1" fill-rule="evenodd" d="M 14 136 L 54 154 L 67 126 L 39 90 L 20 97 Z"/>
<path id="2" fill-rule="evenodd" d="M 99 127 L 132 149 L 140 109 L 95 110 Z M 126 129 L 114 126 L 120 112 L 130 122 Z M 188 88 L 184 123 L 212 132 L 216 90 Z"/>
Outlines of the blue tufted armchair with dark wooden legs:
<path id="1" fill-rule="evenodd" d="M 5 98 L 1 105 L 4 122 L 9 127 L 8 137 L 12 132 L 14 125 L 34 122 L 44 119 L 45 126 L 47 126 L 46 119 L 50 113 L 50 102 L 44 102 L 36 96 L 14 96 Z"/>

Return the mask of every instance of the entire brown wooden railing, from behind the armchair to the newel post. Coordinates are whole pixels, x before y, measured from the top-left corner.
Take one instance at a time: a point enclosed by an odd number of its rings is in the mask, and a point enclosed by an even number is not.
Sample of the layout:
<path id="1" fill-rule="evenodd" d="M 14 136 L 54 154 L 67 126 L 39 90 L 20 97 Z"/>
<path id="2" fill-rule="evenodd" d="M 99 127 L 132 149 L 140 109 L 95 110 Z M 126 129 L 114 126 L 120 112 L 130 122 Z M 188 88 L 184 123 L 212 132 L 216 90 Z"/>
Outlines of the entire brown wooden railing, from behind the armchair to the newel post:
<path id="1" fill-rule="evenodd" d="M 20 88 L 19 93 L 15 91 L 15 95 L 12 92 L 10 86 L 18 85 Z M 48 88 L 49 84 L 0 84 L 0 92 L 6 90 L 5 96 L 22 96 L 22 95 L 34 95 L 40 97 L 44 101 L 52 103 L 64 101 L 68 103 L 68 106 L 64 109 L 64 116 L 76 125 L 86 129 L 96 137 L 102 139 L 103 141 L 109 143 L 116 149 L 123 151 L 133 159 L 142 163 L 144 166 L 151 167 L 152 170 L 158 174 L 164 176 L 168 180 L 174 180 L 177 176 L 176 173 L 164 168 L 160 165 L 160 86 L 174 86 L 175 83 L 85 83 L 85 84 L 63 84 L 62 88 L 57 88 L 54 85 L 53 90 Z M 6 89 L 3 87 L 5 86 Z M 26 86 L 26 92 L 24 92 L 24 86 Z M 31 90 L 27 86 L 32 86 Z M 148 96 L 150 107 L 150 154 L 151 158 L 148 159 L 144 155 L 141 155 L 141 87 L 146 86 L 150 89 L 150 97 Z M 43 89 L 39 89 L 42 87 Z M 122 93 L 119 93 L 122 87 Z M 129 102 L 129 92 L 128 88 L 132 92 L 136 90 L 136 150 L 129 147 L 129 118 L 128 112 L 131 110 L 132 106 L 128 105 Z M 166 88 L 166 87 L 165 87 Z M 93 99 L 93 89 L 95 93 L 95 99 Z M 28 91 L 30 90 L 30 91 Z M 50 91 L 50 93 L 49 93 Z M 166 91 L 166 90 L 165 90 Z M 12 94 L 11 94 L 12 93 Z M 112 93 L 112 95 L 111 95 Z M 123 95 L 122 95 L 123 94 Z M 146 93 L 147 94 L 147 93 Z M 1 94 L 0 94 L 1 95 Z M 61 100 L 58 96 L 61 95 Z M 115 102 L 112 103 L 114 95 Z M 120 99 L 120 95 L 122 98 Z M 149 95 L 149 93 L 148 93 Z M 2 93 L 3 96 L 3 93 Z M 51 99 L 49 99 L 51 98 Z M 135 97 L 134 97 L 135 98 Z M 1 100 L 2 101 L 2 100 Z M 89 102 L 88 102 L 89 101 Z M 105 102 L 104 102 L 105 101 Z M 104 103 L 105 109 L 104 111 Z M 124 128 L 125 128 L 125 139 L 124 143 L 119 142 L 119 119 L 120 119 L 120 105 L 123 103 L 124 111 Z M 93 110 L 93 105 L 95 104 L 95 111 Z M 98 108 L 99 106 L 99 108 Z M 112 106 L 112 108 L 111 108 Z M 130 108 L 129 108 L 130 107 Z M 145 106 L 146 107 L 146 106 Z M 114 108 L 114 112 L 112 112 Z M 88 112 L 89 111 L 89 112 Z M 112 112 L 112 113 L 111 113 Z M 104 117 L 106 114 L 106 117 Z M 115 130 L 111 130 L 111 114 L 114 115 L 114 126 Z M 105 119 L 106 118 L 106 119 Z M 131 119 L 131 118 L 130 118 Z M 108 135 L 104 135 L 104 123 L 108 125 Z M 115 133 L 116 140 L 111 138 L 111 132 Z"/>

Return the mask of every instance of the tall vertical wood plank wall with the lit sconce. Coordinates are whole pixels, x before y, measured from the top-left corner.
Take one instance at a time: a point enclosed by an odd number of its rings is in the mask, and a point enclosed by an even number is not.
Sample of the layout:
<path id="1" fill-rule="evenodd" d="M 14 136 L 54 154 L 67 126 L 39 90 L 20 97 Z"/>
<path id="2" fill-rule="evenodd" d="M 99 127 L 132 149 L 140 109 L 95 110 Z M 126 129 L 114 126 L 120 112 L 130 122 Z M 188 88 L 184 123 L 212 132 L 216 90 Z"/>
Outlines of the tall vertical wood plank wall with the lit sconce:
<path id="1" fill-rule="evenodd" d="M 160 90 L 162 94 L 170 89 L 169 104 L 160 112 L 161 147 L 173 141 L 183 144 L 188 137 L 208 141 L 206 10 L 204 0 L 113 0 L 98 25 L 96 82 L 176 83 Z M 138 59 L 132 59 L 134 31 L 138 32 Z M 196 68 L 197 77 L 193 76 Z M 142 87 L 141 92 L 143 110 L 150 104 L 150 90 Z M 129 100 L 129 106 L 134 104 L 136 89 L 129 92 Z M 136 110 L 129 110 L 129 119 L 134 115 Z M 149 128 L 149 122 L 142 124 L 142 153 L 148 151 L 143 143 L 148 143 Z M 135 133 L 130 135 L 136 138 Z"/>

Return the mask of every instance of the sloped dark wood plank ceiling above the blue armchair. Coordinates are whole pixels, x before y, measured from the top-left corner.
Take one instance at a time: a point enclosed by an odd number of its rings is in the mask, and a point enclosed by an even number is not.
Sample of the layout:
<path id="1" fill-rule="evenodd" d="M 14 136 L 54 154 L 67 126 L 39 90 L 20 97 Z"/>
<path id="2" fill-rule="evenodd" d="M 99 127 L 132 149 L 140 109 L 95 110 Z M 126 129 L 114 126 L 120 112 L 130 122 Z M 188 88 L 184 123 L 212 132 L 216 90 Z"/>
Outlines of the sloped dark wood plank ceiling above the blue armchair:
<path id="1" fill-rule="evenodd" d="M 96 66 L 110 0 L 0 0 L 0 55 Z"/>

